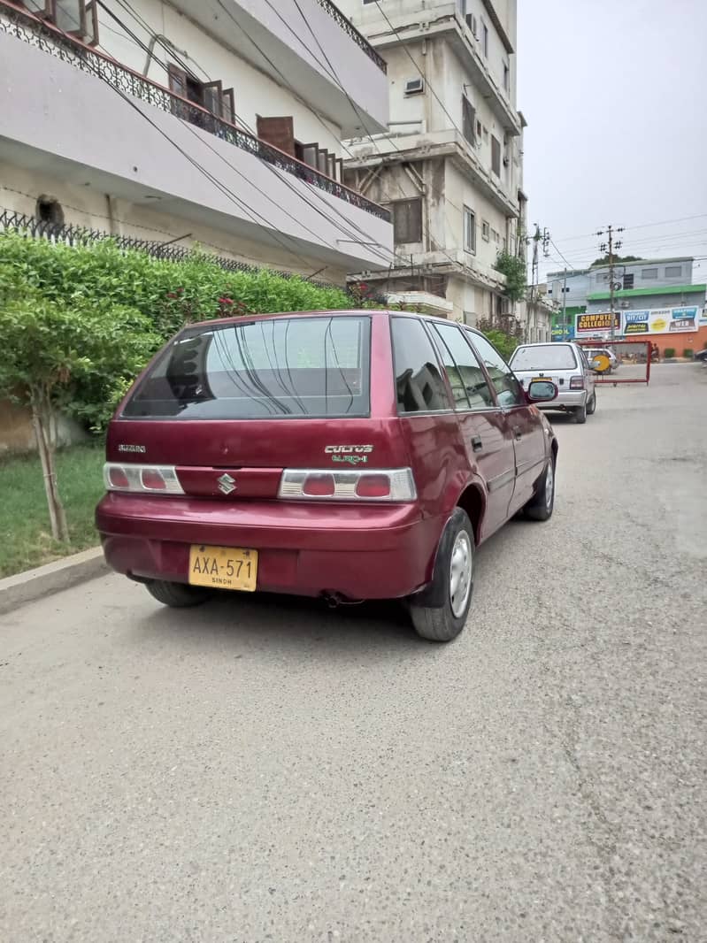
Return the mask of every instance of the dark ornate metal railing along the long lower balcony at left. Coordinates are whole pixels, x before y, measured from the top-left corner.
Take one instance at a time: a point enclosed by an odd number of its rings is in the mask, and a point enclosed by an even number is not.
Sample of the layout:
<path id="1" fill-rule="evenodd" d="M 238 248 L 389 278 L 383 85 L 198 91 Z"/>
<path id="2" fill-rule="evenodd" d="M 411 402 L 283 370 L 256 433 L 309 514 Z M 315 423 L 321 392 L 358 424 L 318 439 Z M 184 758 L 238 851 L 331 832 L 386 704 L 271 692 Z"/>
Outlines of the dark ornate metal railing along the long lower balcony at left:
<path id="1" fill-rule="evenodd" d="M 341 16 L 340 13 L 338 15 Z M 132 69 L 128 69 L 120 62 L 99 53 L 83 42 L 74 40 L 56 26 L 42 22 L 28 11 L 8 3 L 7 0 L 0 0 L 0 32 L 8 33 L 41 49 L 42 52 L 49 53 L 50 56 L 69 62 L 82 72 L 101 78 L 121 94 L 131 95 L 148 105 L 201 127 L 215 137 L 221 138 L 222 141 L 228 141 L 229 144 L 243 151 L 249 151 L 278 170 L 292 174 L 304 180 L 305 183 L 331 193 L 345 203 L 385 220 L 386 223 L 390 221 L 390 213 L 384 207 L 367 200 L 361 193 L 349 190 L 332 177 L 321 174 L 315 168 L 295 157 L 290 157 L 284 151 L 273 147 L 272 144 L 260 141 L 255 135 L 241 130 L 235 124 L 207 111 L 206 108 L 182 98 L 181 95 L 166 89 L 152 79 L 145 78 L 140 73 L 133 72 Z"/>

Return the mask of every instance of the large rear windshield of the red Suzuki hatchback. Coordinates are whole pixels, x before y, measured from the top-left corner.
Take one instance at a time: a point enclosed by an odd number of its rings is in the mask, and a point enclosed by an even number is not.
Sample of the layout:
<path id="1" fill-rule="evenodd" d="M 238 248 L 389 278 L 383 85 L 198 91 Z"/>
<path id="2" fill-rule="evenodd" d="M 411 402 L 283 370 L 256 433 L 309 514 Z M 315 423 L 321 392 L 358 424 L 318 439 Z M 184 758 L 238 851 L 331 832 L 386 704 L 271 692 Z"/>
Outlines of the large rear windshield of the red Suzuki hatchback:
<path id="1" fill-rule="evenodd" d="M 370 318 L 214 324 L 180 334 L 123 409 L 129 419 L 367 416 Z"/>

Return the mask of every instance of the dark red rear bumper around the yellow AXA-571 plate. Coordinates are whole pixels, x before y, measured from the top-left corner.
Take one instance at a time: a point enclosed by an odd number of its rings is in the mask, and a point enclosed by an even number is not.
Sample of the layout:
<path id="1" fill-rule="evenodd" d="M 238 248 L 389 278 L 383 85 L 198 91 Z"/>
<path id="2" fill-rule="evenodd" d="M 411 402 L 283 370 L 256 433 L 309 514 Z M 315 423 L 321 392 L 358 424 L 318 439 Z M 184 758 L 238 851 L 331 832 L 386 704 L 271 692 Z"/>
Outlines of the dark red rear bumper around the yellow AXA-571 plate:
<path id="1" fill-rule="evenodd" d="M 107 563 L 187 583 L 191 544 L 258 551 L 257 588 L 348 599 L 407 596 L 432 579 L 444 521 L 418 505 L 224 504 L 107 494 L 96 509 Z"/>

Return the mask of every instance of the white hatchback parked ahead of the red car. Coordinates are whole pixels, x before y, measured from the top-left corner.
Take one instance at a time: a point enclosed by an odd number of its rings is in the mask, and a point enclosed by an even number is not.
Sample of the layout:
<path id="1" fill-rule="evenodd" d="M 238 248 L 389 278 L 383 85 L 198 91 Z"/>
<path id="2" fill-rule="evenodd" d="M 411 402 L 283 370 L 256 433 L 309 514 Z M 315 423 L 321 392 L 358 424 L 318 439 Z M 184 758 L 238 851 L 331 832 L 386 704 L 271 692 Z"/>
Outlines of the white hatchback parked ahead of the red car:
<path id="1" fill-rule="evenodd" d="M 572 413 L 580 423 L 597 408 L 594 372 L 579 344 L 520 344 L 511 356 L 511 368 L 525 389 L 534 380 L 551 380 L 557 386 L 558 395 L 541 408 Z"/>

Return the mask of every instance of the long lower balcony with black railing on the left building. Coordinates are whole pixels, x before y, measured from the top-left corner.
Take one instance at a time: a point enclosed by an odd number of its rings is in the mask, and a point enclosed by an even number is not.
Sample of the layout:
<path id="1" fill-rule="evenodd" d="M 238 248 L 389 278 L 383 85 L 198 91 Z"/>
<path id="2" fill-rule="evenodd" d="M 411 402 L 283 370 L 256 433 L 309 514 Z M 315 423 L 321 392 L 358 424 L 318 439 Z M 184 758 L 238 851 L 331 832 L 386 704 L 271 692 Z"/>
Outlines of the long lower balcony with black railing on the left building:
<path id="1" fill-rule="evenodd" d="M 386 209 L 5 0 L 0 61 L 8 163 L 339 269 L 388 264 Z"/>

